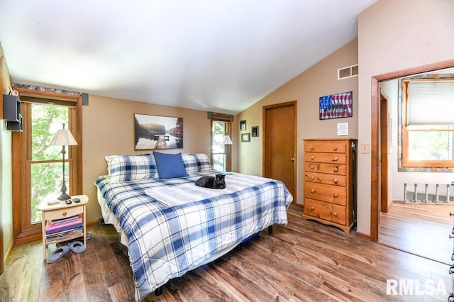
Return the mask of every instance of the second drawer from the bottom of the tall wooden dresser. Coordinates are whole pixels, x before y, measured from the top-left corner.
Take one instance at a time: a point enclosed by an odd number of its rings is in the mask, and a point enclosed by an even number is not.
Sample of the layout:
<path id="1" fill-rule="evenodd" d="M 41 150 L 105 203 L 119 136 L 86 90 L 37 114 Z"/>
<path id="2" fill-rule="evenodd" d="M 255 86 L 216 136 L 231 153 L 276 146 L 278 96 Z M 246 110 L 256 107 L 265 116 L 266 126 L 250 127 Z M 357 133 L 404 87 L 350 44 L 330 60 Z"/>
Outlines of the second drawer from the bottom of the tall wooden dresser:
<path id="1" fill-rule="evenodd" d="M 304 185 L 304 197 L 345 206 L 347 204 L 347 188 L 345 186 L 307 182 Z"/>

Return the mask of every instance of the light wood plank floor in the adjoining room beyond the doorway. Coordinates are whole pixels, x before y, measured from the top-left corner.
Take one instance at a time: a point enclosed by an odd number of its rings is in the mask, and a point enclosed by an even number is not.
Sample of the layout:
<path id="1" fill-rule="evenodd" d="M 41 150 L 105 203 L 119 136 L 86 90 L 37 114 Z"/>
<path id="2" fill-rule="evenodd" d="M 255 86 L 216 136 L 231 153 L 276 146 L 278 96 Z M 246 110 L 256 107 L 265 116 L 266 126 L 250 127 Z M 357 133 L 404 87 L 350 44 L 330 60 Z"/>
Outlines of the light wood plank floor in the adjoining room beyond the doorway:
<path id="1" fill-rule="evenodd" d="M 380 213 L 378 241 L 414 255 L 450 264 L 454 206 L 394 202 Z"/>

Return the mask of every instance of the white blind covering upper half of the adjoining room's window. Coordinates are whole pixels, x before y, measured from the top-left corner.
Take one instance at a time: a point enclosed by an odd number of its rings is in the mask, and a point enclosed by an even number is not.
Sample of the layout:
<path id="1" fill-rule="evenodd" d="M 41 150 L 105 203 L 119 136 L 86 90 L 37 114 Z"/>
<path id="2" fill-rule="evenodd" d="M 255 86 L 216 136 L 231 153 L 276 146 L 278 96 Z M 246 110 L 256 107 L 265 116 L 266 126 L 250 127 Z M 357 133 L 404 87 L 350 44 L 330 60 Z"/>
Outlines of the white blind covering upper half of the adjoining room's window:
<path id="1" fill-rule="evenodd" d="M 454 81 L 409 82 L 409 125 L 454 125 Z"/>

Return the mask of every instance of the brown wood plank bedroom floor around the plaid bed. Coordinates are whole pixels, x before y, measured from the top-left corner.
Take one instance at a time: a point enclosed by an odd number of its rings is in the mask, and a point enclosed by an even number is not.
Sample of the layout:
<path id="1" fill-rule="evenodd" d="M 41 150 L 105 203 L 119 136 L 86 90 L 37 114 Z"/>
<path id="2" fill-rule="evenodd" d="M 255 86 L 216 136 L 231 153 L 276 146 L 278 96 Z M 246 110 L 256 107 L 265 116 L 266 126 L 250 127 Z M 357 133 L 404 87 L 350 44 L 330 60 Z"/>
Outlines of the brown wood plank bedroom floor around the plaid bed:
<path id="1" fill-rule="evenodd" d="M 302 220 L 301 214 L 291 206 L 288 225 L 275 225 L 272 235 L 263 231 L 144 301 L 447 300 L 448 265 Z M 54 264 L 44 264 L 40 242 L 14 247 L 0 276 L 0 301 L 133 301 L 128 259 L 116 253 L 118 234 L 108 225 L 89 232 L 86 252 L 70 252 Z M 445 293 L 387 296 L 387 279 L 441 282 Z"/>

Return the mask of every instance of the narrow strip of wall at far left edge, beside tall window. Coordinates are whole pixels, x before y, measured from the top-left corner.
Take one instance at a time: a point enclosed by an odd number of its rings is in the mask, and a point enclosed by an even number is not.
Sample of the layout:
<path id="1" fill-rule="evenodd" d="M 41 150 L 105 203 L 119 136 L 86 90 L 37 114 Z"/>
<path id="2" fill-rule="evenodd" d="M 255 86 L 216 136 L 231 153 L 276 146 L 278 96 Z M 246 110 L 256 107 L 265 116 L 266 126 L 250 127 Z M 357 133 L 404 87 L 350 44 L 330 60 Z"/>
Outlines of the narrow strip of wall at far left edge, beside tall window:
<path id="1" fill-rule="evenodd" d="M 8 94 L 11 86 L 8 65 L 0 45 L 0 77 L 3 79 L 3 93 Z M 1 103 L 3 106 L 3 103 Z M 0 119 L 0 207 L 1 228 L 3 231 L 4 257 L 13 246 L 13 166 L 11 159 L 11 132 L 6 130 L 5 122 Z"/>

